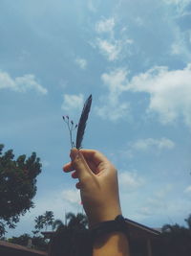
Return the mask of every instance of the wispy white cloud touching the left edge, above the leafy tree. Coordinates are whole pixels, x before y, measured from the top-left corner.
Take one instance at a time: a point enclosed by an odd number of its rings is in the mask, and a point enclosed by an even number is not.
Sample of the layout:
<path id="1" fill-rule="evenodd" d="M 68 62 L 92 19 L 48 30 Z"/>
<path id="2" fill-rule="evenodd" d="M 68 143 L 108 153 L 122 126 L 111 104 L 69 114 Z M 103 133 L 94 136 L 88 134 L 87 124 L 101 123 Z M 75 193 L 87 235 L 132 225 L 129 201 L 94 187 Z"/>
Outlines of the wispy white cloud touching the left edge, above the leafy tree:
<path id="1" fill-rule="evenodd" d="M 31 89 L 41 93 L 47 94 L 48 90 L 35 80 L 32 74 L 24 75 L 12 79 L 7 72 L 0 71 L 0 89 L 11 89 L 16 92 L 25 93 Z"/>

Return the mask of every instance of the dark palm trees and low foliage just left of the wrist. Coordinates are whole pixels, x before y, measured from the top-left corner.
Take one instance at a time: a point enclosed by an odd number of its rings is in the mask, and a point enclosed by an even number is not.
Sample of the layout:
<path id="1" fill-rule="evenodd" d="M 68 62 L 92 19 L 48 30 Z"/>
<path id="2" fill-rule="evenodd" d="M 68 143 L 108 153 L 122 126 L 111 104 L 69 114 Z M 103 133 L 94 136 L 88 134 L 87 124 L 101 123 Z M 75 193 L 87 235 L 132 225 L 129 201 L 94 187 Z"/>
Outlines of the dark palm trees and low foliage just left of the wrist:
<path id="1" fill-rule="evenodd" d="M 19 237 L 12 237 L 8 239 L 8 242 L 13 244 L 20 244 L 24 246 L 31 245 L 32 248 L 47 251 L 49 247 L 49 240 L 47 240 L 41 234 L 41 232 L 47 231 L 49 227 L 49 231 L 50 229 L 51 231 L 54 231 L 52 242 L 51 242 L 53 250 L 55 250 L 55 244 L 56 244 L 56 250 L 61 248 L 62 253 L 63 253 L 63 249 L 67 253 L 69 253 L 70 250 L 74 249 L 74 244 L 72 244 L 72 242 L 75 241 L 75 244 L 76 244 L 77 233 L 81 232 L 82 230 L 83 231 L 88 230 L 87 229 L 88 221 L 86 216 L 81 213 L 78 213 L 75 215 L 74 213 L 69 212 L 66 214 L 65 218 L 66 218 L 65 223 L 64 221 L 61 221 L 58 219 L 55 220 L 53 217 L 53 211 L 46 211 L 43 215 L 39 215 L 34 219 L 35 224 L 34 224 L 34 230 L 32 230 L 33 235 L 25 233 Z M 67 254 L 67 255 L 70 255 L 70 254 Z"/>

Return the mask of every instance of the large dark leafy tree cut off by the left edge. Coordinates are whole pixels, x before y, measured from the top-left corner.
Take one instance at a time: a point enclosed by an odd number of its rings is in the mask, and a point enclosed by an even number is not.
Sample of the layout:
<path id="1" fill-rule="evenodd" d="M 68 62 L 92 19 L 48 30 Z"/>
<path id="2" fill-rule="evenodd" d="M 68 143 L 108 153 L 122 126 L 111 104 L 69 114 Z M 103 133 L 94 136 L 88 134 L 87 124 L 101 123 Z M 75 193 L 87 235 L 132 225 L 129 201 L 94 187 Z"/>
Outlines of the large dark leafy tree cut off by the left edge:
<path id="1" fill-rule="evenodd" d="M 6 227 L 15 228 L 20 216 L 30 210 L 36 194 L 36 176 L 41 173 L 40 158 L 36 153 L 14 159 L 12 150 L 3 154 L 0 144 L 0 237 Z"/>

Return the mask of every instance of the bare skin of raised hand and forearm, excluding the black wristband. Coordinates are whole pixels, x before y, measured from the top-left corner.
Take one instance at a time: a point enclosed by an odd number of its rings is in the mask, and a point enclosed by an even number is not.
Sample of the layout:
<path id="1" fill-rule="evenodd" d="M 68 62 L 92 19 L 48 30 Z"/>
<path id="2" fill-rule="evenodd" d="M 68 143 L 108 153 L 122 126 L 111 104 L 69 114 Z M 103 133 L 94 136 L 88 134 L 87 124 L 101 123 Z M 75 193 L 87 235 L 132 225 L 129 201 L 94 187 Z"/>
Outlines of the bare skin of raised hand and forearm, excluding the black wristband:
<path id="1" fill-rule="evenodd" d="M 115 220 L 121 214 L 117 169 L 99 151 L 73 149 L 71 159 L 64 171 L 74 171 L 72 176 L 79 180 L 76 188 L 80 189 L 89 227 Z M 93 247 L 94 256 L 130 256 L 128 240 L 122 232 L 100 236 Z"/>

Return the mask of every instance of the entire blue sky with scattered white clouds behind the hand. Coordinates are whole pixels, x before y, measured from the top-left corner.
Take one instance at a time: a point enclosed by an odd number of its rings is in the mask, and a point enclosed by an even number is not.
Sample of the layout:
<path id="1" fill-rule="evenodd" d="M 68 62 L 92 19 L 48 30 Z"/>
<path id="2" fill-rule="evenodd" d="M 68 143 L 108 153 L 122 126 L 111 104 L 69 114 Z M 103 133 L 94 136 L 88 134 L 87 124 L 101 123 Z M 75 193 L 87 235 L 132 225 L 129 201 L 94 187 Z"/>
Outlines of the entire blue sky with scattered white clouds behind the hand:
<path id="1" fill-rule="evenodd" d="M 191 213 L 191 1 L 1 0 L 0 142 L 42 162 L 34 218 L 82 212 L 62 167 L 87 97 L 83 148 L 117 167 L 123 216 L 150 227 Z"/>

